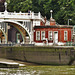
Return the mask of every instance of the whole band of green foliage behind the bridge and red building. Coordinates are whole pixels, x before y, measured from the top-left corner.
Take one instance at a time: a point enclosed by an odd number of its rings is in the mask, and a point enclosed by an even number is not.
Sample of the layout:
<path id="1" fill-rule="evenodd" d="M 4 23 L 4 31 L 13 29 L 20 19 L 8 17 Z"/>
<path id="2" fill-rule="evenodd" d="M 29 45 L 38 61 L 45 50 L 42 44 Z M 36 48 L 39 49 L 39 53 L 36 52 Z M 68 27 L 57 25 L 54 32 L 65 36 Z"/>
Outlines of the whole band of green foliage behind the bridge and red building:
<path id="1" fill-rule="evenodd" d="M 40 11 L 49 19 L 50 10 L 53 10 L 53 18 L 59 24 L 67 24 L 70 18 L 72 19 L 70 24 L 75 24 L 75 0 L 7 0 L 7 2 L 8 11 Z"/>

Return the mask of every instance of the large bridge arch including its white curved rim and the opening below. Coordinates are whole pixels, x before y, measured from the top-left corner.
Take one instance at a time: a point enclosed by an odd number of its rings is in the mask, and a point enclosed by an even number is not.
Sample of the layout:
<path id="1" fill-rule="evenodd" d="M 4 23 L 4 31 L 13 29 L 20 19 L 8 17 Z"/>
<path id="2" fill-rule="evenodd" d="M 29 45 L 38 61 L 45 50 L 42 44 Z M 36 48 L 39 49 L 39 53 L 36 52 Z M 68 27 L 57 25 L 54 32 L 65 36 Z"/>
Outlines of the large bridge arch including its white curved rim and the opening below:
<path id="1" fill-rule="evenodd" d="M 14 21 L 2 21 L 0 23 L 5 23 L 6 27 L 6 36 L 7 36 L 7 43 L 20 43 L 20 44 L 29 44 L 30 43 L 30 35 L 26 31 L 25 28 L 18 22 Z"/>

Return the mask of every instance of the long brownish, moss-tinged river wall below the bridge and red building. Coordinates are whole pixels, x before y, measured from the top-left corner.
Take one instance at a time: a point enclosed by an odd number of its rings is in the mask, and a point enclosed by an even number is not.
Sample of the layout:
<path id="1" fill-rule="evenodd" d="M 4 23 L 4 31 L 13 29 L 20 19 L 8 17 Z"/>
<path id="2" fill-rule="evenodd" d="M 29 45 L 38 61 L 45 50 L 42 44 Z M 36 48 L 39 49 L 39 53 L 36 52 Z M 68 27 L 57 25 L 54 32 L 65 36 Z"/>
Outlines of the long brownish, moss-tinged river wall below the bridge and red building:
<path id="1" fill-rule="evenodd" d="M 71 65 L 75 50 L 73 47 L 0 47 L 0 57 L 39 64 Z"/>

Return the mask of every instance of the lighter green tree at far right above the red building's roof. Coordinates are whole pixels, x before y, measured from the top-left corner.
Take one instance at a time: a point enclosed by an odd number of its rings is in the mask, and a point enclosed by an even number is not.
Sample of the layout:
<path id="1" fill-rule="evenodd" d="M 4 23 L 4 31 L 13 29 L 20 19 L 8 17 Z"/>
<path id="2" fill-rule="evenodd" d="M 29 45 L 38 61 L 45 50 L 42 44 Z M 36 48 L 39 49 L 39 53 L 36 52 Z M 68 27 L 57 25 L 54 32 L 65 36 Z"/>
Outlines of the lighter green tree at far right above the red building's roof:
<path id="1" fill-rule="evenodd" d="M 73 22 L 73 14 L 75 11 L 75 0 L 59 0 L 58 4 L 60 6 L 60 10 L 55 15 L 55 18 L 57 22 L 60 24 L 67 24 L 68 19 L 72 19 L 70 22 L 71 24 L 74 24 Z"/>

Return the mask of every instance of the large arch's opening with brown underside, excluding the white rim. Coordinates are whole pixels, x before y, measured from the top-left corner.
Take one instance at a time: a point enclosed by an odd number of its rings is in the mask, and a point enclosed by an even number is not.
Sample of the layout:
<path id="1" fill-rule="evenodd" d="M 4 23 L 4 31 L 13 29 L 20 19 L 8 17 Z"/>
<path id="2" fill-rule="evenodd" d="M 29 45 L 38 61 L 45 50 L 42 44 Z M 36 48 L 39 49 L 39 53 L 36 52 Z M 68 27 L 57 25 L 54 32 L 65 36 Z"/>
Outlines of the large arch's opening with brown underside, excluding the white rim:
<path id="1" fill-rule="evenodd" d="M 24 28 L 15 23 L 8 23 L 8 43 L 29 44 L 29 42 L 29 35 Z"/>

